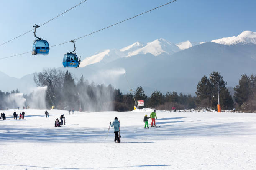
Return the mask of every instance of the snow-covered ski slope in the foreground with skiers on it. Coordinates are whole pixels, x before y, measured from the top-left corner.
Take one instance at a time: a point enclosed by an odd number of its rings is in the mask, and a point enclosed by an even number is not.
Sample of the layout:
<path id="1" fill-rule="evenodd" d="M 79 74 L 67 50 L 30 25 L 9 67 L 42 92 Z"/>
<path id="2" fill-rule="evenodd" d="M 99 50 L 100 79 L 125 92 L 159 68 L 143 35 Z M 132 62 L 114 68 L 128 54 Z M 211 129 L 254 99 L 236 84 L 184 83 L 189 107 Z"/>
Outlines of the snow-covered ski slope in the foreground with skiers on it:
<path id="1" fill-rule="evenodd" d="M 144 129 L 152 110 L 75 112 L 14 110 L 0 120 L 0 170 L 255 170 L 256 114 L 156 111 L 159 128 Z M 21 110 L 16 110 L 19 114 Z M 64 113 L 66 125 L 54 127 Z M 121 143 L 110 122 L 118 117 Z M 149 120 L 151 123 L 151 120 Z"/>

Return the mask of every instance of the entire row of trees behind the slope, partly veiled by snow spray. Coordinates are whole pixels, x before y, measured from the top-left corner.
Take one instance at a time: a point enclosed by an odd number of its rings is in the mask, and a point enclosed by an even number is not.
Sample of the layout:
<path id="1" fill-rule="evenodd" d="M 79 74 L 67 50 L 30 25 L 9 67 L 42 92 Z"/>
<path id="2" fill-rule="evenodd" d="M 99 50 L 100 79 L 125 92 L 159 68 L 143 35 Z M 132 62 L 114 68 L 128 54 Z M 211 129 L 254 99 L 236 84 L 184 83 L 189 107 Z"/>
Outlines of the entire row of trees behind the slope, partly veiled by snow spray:
<path id="1" fill-rule="evenodd" d="M 123 94 L 112 85 L 95 85 L 93 82 L 84 80 L 83 76 L 75 81 L 75 77 L 70 72 L 63 72 L 55 68 L 45 68 L 42 72 L 35 73 L 34 82 L 40 87 L 47 86 L 46 107 L 56 105 L 58 109 L 64 110 L 79 110 L 81 108 L 85 111 L 128 111 L 133 110 L 133 105 L 135 105 L 132 93 Z M 256 110 L 256 75 L 242 75 L 235 88 L 228 88 L 220 73 L 212 72 L 209 76 L 203 76 L 198 82 L 196 96 L 178 94 L 175 91 L 162 94 L 155 90 L 148 97 L 143 87 L 136 89 L 136 96 L 137 100 L 144 100 L 144 107 L 159 110 L 171 109 L 173 106 L 177 109 L 201 107 L 216 109 L 218 104 L 217 82 L 222 109 L 230 110 L 235 107 L 239 110 Z M 230 95 L 230 90 L 233 90 L 233 95 Z M 3 99 L 13 93 L 19 93 L 18 89 L 11 93 L 0 91 L 0 107 L 8 105 Z M 35 96 L 39 96 L 39 94 L 23 95 L 26 98 L 26 105 L 28 103 L 32 105 Z M 41 103 L 41 100 L 37 101 Z"/>

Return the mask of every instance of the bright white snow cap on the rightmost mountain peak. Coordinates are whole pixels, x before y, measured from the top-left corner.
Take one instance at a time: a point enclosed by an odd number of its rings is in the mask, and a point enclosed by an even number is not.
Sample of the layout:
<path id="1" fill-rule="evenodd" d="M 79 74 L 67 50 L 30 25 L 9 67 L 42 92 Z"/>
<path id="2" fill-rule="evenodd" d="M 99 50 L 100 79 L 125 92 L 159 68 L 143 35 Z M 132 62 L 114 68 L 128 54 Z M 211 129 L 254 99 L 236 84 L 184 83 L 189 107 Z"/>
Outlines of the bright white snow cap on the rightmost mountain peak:
<path id="1" fill-rule="evenodd" d="M 224 45 L 236 45 L 236 44 L 256 44 L 256 32 L 252 31 L 243 31 L 237 37 L 225 37 L 217 40 L 212 40 L 217 44 Z"/>

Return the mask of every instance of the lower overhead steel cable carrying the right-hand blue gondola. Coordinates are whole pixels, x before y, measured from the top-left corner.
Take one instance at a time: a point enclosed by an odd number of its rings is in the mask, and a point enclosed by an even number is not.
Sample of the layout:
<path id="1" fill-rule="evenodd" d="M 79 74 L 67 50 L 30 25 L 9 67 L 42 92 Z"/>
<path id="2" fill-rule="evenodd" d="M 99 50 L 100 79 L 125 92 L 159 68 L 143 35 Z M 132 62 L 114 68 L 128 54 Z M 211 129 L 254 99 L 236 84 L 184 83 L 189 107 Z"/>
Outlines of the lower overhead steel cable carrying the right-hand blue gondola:
<path id="1" fill-rule="evenodd" d="M 159 7 L 163 7 L 163 6 L 168 5 L 168 4 L 170 4 L 170 3 L 172 3 L 172 2 L 175 2 L 175 1 L 177 1 L 177 0 L 173 0 L 173 1 L 171 1 L 171 2 L 168 2 L 168 3 L 164 4 L 164 5 L 161 5 L 161 6 L 159 6 Z M 148 11 L 146 11 L 146 12 L 144 12 L 144 13 L 135 15 L 135 16 L 133 16 L 133 17 L 131 17 L 131 18 L 125 19 L 125 20 L 120 21 L 120 22 L 118 22 L 118 23 L 115 23 L 115 24 L 113 24 L 113 25 L 109 25 L 108 27 L 105 27 L 105 28 L 102 28 L 102 29 L 100 29 L 100 30 L 91 32 L 90 34 L 84 35 L 84 36 L 79 37 L 79 38 L 74 39 L 74 40 L 79 40 L 79 39 L 81 39 L 81 38 L 83 38 L 83 37 L 87 37 L 88 35 L 92 35 L 92 34 L 94 34 L 94 33 L 96 33 L 96 32 L 99 32 L 99 31 L 101 31 L 101 30 L 105 30 L 105 29 L 110 28 L 110 27 L 112 27 L 112 26 L 114 26 L 114 25 L 118 25 L 118 24 L 123 23 L 123 22 L 125 22 L 125 21 L 127 21 L 127 20 L 131 20 L 132 18 L 138 17 L 138 16 L 143 15 L 143 14 L 145 14 L 145 13 L 148 13 L 148 12 L 150 12 L 150 11 L 152 11 L 152 10 L 156 10 L 156 9 L 159 8 L 159 7 L 155 7 L 155 8 L 153 8 L 153 9 L 151 9 L 151 10 L 148 10 Z M 50 46 L 50 47 L 55 47 L 55 46 L 58 46 L 58 45 L 63 45 L 63 44 L 69 43 L 69 42 L 71 42 L 71 41 L 63 42 L 63 43 L 60 43 L 60 44 L 57 44 L 57 45 L 52 45 L 52 46 Z M 25 53 L 17 54 L 17 55 L 23 55 L 23 54 L 26 54 L 26 53 L 29 53 L 29 52 L 25 52 Z M 9 56 L 9 57 L 3 57 L 3 58 L 0 58 L 0 60 L 5 59 L 5 58 L 14 57 L 14 56 L 17 56 L 17 55 L 12 55 L 12 56 Z"/>

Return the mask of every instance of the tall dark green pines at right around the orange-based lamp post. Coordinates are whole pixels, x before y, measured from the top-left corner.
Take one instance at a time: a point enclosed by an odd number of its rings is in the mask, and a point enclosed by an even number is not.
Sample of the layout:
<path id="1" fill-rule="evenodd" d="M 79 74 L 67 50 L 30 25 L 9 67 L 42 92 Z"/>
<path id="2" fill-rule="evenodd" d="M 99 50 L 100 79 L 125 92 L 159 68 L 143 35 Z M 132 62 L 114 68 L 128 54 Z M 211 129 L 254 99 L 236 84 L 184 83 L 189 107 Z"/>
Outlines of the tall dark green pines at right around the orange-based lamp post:
<path id="1" fill-rule="evenodd" d="M 227 88 L 227 83 L 218 72 L 210 73 L 209 77 L 202 77 L 197 84 L 197 91 L 195 92 L 197 95 L 195 98 L 197 107 L 216 109 L 216 105 L 218 104 L 217 82 L 222 109 L 256 110 L 256 75 L 241 75 L 238 85 L 230 89 L 234 91 L 233 96 L 231 96 Z"/>

